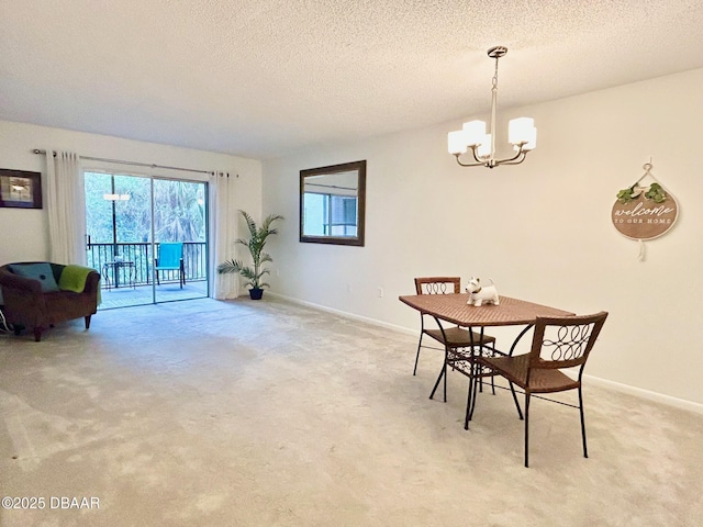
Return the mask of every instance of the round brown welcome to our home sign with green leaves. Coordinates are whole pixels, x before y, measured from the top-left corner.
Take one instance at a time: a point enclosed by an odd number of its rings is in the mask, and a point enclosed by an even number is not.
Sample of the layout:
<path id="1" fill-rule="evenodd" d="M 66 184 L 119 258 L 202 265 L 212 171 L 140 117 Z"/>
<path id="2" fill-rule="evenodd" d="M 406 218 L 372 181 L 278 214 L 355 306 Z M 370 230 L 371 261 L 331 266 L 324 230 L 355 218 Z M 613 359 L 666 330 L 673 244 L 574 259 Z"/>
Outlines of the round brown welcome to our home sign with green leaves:
<path id="1" fill-rule="evenodd" d="M 659 183 L 633 184 L 617 193 L 613 205 L 613 225 L 632 239 L 652 239 L 669 231 L 677 221 L 679 205 Z"/>

